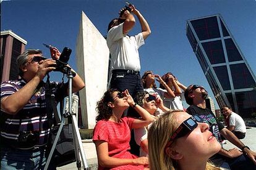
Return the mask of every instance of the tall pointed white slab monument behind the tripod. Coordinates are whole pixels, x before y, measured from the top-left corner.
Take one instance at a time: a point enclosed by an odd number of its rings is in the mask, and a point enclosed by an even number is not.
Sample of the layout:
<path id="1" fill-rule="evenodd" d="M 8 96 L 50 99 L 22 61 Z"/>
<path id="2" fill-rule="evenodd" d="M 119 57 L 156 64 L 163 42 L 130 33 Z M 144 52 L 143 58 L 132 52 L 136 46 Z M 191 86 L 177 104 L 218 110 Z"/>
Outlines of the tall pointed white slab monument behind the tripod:
<path id="1" fill-rule="evenodd" d="M 109 50 L 106 39 L 82 12 L 76 46 L 77 73 L 85 81 L 79 92 L 82 122 L 85 128 L 95 126 L 96 102 L 106 91 Z"/>

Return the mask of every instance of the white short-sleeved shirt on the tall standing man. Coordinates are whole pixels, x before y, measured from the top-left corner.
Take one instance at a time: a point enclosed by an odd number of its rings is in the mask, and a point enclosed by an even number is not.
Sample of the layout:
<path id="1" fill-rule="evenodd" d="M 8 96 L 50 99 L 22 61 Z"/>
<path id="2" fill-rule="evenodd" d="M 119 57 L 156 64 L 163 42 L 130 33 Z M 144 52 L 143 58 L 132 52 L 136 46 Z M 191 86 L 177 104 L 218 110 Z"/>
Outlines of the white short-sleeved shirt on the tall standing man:
<path id="1" fill-rule="evenodd" d="M 124 23 L 114 26 L 108 31 L 106 39 L 111 54 L 111 70 L 125 69 L 140 71 L 139 47 L 145 42 L 143 34 L 127 36 L 122 33 Z"/>

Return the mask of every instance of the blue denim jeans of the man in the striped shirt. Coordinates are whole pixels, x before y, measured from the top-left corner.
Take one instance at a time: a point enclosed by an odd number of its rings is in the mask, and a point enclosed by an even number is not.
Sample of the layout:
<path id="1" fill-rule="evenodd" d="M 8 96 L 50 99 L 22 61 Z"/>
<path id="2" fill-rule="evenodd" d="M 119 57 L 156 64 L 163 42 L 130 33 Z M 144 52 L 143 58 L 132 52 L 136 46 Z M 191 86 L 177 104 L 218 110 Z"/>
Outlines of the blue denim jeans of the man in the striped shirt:
<path id="1" fill-rule="evenodd" d="M 20 150 L 1 145 L 1 169 L 43 169 L 45 167 L 45 147 L 35 150 Z"/>

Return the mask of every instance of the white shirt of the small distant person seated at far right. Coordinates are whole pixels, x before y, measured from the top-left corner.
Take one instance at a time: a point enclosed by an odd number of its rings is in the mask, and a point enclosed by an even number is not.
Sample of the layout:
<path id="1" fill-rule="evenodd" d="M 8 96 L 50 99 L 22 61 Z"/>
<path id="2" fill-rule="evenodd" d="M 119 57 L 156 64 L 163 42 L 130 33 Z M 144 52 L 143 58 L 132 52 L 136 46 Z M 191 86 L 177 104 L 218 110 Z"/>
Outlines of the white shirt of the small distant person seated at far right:
<path id="1" fill-rule="evenodd" d="M 229 117 L 229 126 L 234 126 L 235 132 L 246 132 L 246 126 L 244 123 L 244 119 L 241 116 L 237 115 L 236 113 L 232 112 Z"/>

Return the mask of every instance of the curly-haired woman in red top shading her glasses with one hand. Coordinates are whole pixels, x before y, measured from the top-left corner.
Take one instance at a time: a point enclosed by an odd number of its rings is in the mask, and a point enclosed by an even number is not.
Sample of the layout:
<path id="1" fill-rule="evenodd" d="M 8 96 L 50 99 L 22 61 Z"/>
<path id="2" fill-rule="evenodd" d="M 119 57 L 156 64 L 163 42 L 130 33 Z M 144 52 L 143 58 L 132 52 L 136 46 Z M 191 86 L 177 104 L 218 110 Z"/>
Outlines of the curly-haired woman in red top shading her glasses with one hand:
<path id="1" fill-rule="evenodd" d="M 122 116 L 124 110 L 133 107 L 142 117 L 134 119 Z M 98 169 L 147 169 L 148 158 L 132 155 L 130 150 L 130 131 L 132 128 L 147 126 L 154 119 L 148 111 L 134 102 L 129 92 L 109 89 L 97 103 L 98 116 L 93 131 L 96 145 Z"/>

